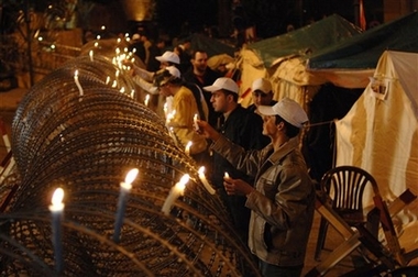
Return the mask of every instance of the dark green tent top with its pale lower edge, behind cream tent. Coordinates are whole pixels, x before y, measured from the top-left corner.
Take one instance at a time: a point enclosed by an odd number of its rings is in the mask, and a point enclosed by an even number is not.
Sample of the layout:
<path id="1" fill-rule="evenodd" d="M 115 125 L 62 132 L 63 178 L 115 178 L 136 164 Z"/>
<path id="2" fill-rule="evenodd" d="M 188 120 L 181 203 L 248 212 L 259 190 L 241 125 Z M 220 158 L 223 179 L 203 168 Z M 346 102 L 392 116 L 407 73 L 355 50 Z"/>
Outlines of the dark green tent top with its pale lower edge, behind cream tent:
<path id="1" fill-rule="evenodd" d="M 418 52 L 417 29 L 413 12 L 312 53 L 307 70 L 339 87 L 365 88 L 385 51 Z"/>

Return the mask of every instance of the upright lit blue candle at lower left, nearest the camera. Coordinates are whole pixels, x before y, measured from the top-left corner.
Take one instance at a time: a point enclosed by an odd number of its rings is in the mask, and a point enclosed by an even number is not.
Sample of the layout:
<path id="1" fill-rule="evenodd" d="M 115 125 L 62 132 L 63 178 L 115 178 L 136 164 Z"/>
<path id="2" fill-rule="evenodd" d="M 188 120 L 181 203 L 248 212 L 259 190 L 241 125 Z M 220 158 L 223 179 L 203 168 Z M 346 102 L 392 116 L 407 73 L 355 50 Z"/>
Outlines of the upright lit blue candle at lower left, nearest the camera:
<path id="1" fill-rule="evenodd" d="M 52 198 L 52 204 L 50 206 L 50 211 L 52 214 L 52 241 L 54 245 L 54 254 L 55 254 L 55 270 L 61 273 L 63 270 L 63 252 L 62 252 L 62 241 L 61 241 L 61 221 L 63 218 L 64 211 L 64 190 L 62 188 L 57 188 L 54 191 Z"/>

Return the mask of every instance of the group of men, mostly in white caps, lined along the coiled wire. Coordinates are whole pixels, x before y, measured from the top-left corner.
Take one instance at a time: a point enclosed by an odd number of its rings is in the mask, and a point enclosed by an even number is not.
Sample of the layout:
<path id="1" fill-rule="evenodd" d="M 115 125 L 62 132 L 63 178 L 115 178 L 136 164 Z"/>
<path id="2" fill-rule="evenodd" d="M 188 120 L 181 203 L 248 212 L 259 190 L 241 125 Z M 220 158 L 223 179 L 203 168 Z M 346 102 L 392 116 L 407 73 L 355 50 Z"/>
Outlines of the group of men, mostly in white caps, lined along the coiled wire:
<path id="1" fill-rule="evenodd" d="M 308 121 L 290 99 L 275 101 L 266 78 L 252 84 L 252 104 L 240 104 L 235 79 L 208 66 L 205 49 L 184 41 L 132 47 L 145 64 L 134 81 L 164 101 L 165 122 L 180 147 L 205 165 L 237 233 L 248 242 L 263 276 L 299 276 L 314 219 L 315 187 L 298 148 Z M 148 45 L 146 47 L 146 45 Z M 158 65 L 158 66 L 156 66 Z"/>

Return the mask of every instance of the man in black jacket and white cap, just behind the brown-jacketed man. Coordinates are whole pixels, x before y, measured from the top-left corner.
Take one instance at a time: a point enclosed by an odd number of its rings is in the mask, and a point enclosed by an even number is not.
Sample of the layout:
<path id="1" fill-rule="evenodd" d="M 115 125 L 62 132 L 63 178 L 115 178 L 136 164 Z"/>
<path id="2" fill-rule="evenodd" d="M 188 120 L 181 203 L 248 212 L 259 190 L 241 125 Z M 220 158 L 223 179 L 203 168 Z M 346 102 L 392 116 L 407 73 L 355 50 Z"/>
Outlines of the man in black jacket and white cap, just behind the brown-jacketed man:
<path id="1" fill-rule="evenodd" d="M 245 149 L 260 149 L 264 146 L 262 144 L 263 121 L 257 114 L 248 111 L 238 103 L 239 87 L 233 79 L 221 77 L 204 89 L 211 92 L 210 102 L 213 110 L 222 114 L 223 122 L 218 126 L 219 132 Z M 232 178 L 243 179 L 251 184 L 254 178 L 238 170 L 234 164 L 230 164 L 221 155 L 213 153 L 211 181 L 231 214 L 235 230 L 245 242 L 249 234 L 250 210 L 244 207 L 245 197 L 227 196 L 223 187 L 226 171 Z"/>

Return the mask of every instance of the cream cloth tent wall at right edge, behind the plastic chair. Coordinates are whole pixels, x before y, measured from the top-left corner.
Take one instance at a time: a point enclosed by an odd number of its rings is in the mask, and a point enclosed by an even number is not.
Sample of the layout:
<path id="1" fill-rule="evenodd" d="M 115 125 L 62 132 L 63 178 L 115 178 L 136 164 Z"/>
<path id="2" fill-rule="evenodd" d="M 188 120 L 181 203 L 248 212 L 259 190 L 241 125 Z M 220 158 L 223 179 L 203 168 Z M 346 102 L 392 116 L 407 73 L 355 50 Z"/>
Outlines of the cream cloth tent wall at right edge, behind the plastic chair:
<path id="1" fill-rule="evenodd" d="M 387 201 L 407 188 L 418 195 L 417 60 L 415 53 L 384 52 L 373 81 L 336 122 L 337 166 L 371 173 Z M 417 209 L 405 217 L 415 221 Z"/>

